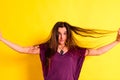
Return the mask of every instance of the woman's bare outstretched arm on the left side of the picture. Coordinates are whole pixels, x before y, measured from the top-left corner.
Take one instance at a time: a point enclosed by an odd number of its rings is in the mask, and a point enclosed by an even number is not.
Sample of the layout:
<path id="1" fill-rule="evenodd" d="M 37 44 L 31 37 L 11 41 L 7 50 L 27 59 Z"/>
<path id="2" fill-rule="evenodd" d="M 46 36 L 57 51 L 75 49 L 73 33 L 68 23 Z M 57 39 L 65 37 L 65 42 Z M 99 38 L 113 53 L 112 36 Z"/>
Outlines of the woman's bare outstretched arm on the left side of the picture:
<path id="1" fill-rule="evenodd" d="M 6 39 L 4 39 L 0 33 L 0 41 L 2 41 L 4 44 L 12 48 L 13 50 L 20 52 L 20 53 L 28 53 L 28 54 L 39 54 L 40 48 L 39 46 L 31 46 L 31 47 L 21 47 L 17 44 L 14 44 Z"/>

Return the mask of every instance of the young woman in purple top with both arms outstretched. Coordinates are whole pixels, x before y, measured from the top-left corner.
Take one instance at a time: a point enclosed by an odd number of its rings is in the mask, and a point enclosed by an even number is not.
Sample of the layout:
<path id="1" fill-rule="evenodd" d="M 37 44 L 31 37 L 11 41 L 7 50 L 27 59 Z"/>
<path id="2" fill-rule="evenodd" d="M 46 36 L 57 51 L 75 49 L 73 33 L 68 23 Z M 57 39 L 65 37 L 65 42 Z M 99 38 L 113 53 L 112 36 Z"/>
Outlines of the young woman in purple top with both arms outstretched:
<path id="1" fill-rule="evenodd" d="M 57 22 L 50 39 L 45 43 L 21 47 L 4 39 L 2 35 L 0 41 L 20 53 L 39 54 L 44 80 L 78 80 L 85 56 L 101 55 L 120 43 L 120 30 L 118 30 L 117 38 L 112 43 L 98 49 L 82 48 L 76 44 L 73 33 L 85 37 L 100 34 L 94 30 L 72 26 L 67 22 Z"/>

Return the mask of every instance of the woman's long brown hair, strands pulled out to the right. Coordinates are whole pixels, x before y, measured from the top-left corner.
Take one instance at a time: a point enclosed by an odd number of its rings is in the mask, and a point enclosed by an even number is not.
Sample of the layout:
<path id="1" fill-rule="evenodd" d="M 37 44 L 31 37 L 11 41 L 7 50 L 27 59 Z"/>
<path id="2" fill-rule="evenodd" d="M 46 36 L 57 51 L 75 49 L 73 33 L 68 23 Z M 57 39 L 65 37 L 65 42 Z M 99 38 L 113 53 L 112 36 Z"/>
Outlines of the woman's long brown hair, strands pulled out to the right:
<path id="1" fill-rule="evenodd" d="M 45 54 L 46 57 L 46 66 L 49 65 L 50 57 L 55 54 L 58 48 L 58 28 L 65 27 L 67 30 L 67 40 L 65 45 L 68 47 L 68 49 L 74 48 L 77 45 L 75 38 L 73 36 L 73 33 L 83 36 L 83 37 L 93 37 L 98 38 L 102 37 L 103 34 L 110 33 L 111 31 L 106 30 L 96 30 L 96 29 L 83 29 L 80 27 L 72 26 L 67 22 L 57 22 L 51 32 L 50 39 L 46 42 L 47 43 L 47 51 Z M 99 36 L 96 36 L 95 34 L 99 34 Z"/>

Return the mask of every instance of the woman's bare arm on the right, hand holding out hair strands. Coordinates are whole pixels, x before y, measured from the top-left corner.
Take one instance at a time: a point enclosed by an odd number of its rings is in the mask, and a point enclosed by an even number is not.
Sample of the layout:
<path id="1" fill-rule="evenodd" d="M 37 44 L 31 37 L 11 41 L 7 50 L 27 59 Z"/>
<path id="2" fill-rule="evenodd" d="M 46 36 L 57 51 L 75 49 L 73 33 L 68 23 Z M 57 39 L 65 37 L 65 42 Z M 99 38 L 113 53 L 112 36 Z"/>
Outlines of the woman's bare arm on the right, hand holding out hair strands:
<path id="1" fill-rule="evenodd" d="M 98 49 L 87 49 L 85 55 L 86 56 L 96 56 L 96 55 L 101 55 L 110 49 L 112 49 L 114 46 L 116 46 L 118 43 L 120 43 L 120 29 L 118 30 L 117 38 L 114 42 L 105 45 L 103 47 L 100 47 Z"/>

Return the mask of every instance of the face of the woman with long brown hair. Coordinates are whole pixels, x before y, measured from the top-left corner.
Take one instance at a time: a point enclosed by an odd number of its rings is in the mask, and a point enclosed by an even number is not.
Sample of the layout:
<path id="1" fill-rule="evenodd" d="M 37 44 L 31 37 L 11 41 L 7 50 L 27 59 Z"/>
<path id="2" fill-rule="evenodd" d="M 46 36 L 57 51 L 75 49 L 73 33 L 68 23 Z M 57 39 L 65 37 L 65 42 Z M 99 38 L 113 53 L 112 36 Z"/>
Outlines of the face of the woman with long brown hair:
<path id="1" fill-rule="evenodd" d="M 59 45 L 65 45 L 67 40 L 67 30 L 65 27 L 58 28 L 58 43 Z"/>

